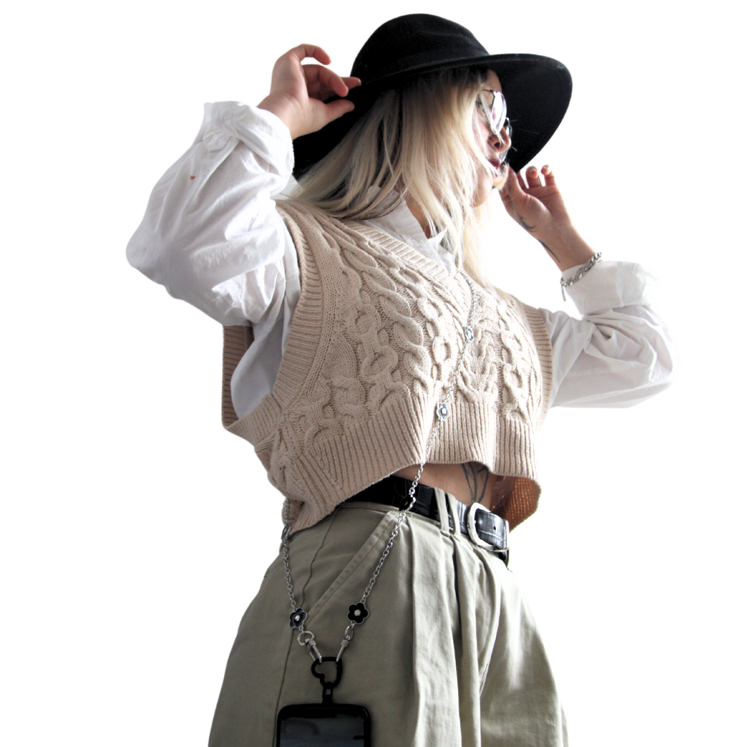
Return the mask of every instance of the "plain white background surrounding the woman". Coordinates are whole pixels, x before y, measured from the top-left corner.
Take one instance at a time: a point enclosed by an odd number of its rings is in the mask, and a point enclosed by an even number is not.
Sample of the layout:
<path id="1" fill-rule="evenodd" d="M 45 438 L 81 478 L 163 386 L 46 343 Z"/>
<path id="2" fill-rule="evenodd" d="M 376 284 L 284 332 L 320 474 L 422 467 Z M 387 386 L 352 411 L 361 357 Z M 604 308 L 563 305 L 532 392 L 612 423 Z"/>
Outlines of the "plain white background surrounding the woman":
<path id="1" fill-rule="evenodd" d="M 658 310 L 678 343 L 678 381 L 660 397 L 551 412 L 539 511 L 512 535 L 571 743 L 743 743 L 736 10 L 18 8 L 1 52 L 1 743 L 206 743 L 235 629 L 278 547 L 281 501 L 249 444 L 220 427 L 220 327 L 131 270 L 125 244 L 202 102 L 258 102 L 274 59 L 301 42 L 347 73 L 376 26 L 423 11 L 490 52 L 568 65 L 571 107 L 536 164 L 553 165 L 595 249 L 660 276 Z M 562 305 L 539 245 L 498 210 L 489 235 L 498 285 Z"/>

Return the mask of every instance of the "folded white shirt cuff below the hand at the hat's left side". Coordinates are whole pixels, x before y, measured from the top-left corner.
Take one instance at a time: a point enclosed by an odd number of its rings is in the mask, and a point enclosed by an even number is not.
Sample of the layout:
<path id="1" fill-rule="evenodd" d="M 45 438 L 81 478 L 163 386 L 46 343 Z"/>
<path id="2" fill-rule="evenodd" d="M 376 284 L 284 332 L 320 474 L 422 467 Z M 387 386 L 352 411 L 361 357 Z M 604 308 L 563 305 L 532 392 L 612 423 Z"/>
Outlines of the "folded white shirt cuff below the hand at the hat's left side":
<path id="1" fill-rule="evenodd" d="M 223 148 L 229 137 L 236 137 L 279 176 L 288 178 L 293 172 L 291 131 L 271 111 L 235 101 L 205 104 L 200 134 L 211 150 Z"/>

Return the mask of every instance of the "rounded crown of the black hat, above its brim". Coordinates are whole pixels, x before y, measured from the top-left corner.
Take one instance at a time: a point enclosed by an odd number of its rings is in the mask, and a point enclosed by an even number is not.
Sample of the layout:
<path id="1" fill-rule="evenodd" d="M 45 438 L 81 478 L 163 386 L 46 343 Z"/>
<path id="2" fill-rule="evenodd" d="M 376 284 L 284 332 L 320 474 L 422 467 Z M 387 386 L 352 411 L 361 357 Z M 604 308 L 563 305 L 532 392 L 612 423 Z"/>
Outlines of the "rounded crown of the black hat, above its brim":
<path id="1" fill-rule="evenodd" d="M 487 50 L 464 26 L 428 13 L 399 16 L 368 37 L 350 75 L 371 84 L 403 72 L 427 72 L 444 63 L 484 58 Z"/>

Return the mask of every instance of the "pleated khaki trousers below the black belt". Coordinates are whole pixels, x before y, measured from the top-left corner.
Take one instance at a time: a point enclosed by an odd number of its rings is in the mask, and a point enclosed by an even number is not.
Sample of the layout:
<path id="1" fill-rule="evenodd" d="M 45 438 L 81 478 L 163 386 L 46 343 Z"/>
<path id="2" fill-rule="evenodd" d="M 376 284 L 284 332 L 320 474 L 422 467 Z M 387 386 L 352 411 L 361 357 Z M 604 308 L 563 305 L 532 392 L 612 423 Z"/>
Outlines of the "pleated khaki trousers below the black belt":
<path id="1" fill-rule="evenodd" d="M 455 499 L 437 496 L 446 516 Z M 291 537 L 296 599 L 323 656 L 337 654 L 347 607 L 361 598 L 396 515 L 344 503 Z M 374 747 L 566 744 L 545 648 L 498 557 L 444 522 L 408 515 L 367 607 L 334 700 L 368 708 Z M 211 747 L 273 747 L 281 707 L 321 701 L 290 612 L 278 557 L 241 620 Z"/>

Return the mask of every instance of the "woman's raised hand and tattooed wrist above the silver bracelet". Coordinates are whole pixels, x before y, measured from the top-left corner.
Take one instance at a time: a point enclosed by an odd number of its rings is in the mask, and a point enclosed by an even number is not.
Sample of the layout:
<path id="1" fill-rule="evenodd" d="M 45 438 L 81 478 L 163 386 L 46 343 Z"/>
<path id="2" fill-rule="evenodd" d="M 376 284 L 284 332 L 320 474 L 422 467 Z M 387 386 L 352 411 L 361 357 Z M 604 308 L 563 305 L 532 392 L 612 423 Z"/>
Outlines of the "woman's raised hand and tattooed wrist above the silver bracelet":
<path id="1" fill-rule="evenodd" d="M 506 212 L 545 247 L 560 270 L 583 264 L 594 255 L 574 229 L 549 166 L 543 166 L 541 172 L 530 166 L 526 181 L 521 172 L 517 174 L 509 167 L 500 199 Z"/>

